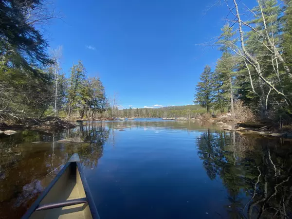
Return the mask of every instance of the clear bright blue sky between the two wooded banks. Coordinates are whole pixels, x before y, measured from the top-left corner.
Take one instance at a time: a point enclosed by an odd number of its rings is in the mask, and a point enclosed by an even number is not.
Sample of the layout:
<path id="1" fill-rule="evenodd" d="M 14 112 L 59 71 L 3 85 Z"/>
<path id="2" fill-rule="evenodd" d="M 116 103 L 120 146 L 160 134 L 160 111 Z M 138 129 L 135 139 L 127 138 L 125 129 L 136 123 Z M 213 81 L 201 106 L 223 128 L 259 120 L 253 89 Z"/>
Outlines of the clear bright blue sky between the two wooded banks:
<path id="1" fill-rule="evenodd" d="M 63 20 L 47 30 L 63 47 L 62 68 L 82 60 L 124 108 L 192 104 L 195 85 L 219 51 L 200 44 L 220 34 L 227 8 L 215 0 L 56 0 Z"/>

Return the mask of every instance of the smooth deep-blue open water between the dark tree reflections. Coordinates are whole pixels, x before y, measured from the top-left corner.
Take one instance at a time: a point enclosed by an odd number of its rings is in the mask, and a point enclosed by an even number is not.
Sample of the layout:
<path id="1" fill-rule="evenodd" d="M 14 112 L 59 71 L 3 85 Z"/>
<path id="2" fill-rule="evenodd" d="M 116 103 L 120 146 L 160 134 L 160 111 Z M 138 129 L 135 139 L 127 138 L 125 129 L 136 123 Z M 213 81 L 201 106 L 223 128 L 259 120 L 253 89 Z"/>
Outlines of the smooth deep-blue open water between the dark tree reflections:
<path id="1" fill-rule="evenodd" d="M 201 132 L 137 127 L 106 144 L 98 166 L 86 169 L 102 218 L 212 218 L 229 203 L 198 157 Z"/>

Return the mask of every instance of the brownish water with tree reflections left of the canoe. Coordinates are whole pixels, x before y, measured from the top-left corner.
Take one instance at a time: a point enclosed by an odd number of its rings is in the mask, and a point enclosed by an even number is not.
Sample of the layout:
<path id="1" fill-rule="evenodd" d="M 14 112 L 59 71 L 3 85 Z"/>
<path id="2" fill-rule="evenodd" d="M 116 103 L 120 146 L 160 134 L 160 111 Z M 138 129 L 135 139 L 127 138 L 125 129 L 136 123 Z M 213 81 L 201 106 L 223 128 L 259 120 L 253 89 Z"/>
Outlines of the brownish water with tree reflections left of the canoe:
<path id="1" fill-rule="evenodd" d="M 1 136 L 0 218 L 20 218 L 73 153 L 82 165 L 96 166 L 109 134 L 109 128 L 91 123 L 53 135 L 23 131 Z M 64 137 L 80 137 L 85 143 L 56 143 Z M 48 143 L 32 144 L 37 141 Z"/>

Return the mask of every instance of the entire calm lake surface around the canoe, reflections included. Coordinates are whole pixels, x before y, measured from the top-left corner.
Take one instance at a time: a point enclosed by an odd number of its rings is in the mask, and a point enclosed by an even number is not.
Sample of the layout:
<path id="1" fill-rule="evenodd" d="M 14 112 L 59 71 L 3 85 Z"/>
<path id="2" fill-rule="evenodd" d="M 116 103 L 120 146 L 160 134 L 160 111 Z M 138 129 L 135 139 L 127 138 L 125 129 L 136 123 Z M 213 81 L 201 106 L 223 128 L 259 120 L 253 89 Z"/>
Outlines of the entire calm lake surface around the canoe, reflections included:
<path id="1" fill-rule="evenodd" d="M 101 219 L 292 218 L 291 140 L 161 119 L 1 134 L 0 218 L 20 218 L 73 153 Z"/>

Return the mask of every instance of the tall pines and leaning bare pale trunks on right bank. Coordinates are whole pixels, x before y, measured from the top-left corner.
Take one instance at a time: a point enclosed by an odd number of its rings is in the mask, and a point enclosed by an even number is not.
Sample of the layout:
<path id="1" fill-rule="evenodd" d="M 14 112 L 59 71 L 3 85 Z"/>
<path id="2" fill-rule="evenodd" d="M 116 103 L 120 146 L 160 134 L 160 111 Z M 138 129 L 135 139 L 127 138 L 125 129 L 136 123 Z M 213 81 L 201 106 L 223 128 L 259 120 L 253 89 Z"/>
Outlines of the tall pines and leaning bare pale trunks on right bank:
<path id="1" fill-rule="evenodd" d="M 222 52 L 215 70 L 206 66 L 194 102 L 208 112 L 242 101 L 262 118 L 292 112 L 292 1 L 257 0 L 248 9 L 232 1 L 216 45 Z M 243 12 L 244 11 L 244 12 Z M 248 11 L 248 15 L 243 15 Z M 232 17 L 232 18 L 231 18 Z"/>

